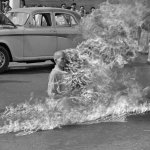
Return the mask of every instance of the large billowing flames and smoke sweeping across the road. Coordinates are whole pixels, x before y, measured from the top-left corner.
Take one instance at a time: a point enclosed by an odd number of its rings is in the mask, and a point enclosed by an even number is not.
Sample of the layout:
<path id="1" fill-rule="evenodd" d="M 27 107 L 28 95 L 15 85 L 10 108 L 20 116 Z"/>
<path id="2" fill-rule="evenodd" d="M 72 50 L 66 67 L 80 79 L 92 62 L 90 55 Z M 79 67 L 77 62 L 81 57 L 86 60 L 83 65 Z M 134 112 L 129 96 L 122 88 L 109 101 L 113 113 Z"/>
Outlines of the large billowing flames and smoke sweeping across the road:
<path id="1" fill-rule="evenodd" d="M 64 50 L 70 74 L 62 82 L 74 92 L 57 100 L 31 98 L 6 107 L 0 116 L 0 134 L 26 135 L 68 124 L 122 122 L 133 113 L 149 111 L 134 69 L 129 72 L 124 67 L 140 49 L 131 33 L 141 21 L 141 8 L 104 3 L 84 18 L 81 30 L 86 40 L 75 49 Z"/>

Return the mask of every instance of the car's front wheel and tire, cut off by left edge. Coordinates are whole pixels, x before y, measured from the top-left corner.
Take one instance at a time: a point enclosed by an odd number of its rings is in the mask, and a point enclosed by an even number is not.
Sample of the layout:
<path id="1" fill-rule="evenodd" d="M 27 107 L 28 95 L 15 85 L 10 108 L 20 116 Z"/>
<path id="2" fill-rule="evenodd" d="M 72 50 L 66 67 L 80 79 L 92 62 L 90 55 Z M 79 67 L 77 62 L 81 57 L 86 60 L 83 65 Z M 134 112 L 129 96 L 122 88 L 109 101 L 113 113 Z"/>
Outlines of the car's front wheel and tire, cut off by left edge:
<path id="1" fill-rule="evenodd" d="M 7 49 L 3 46 L 0 46 L 0 73 L 7 70 L 9 65 L 9 54 Z"/>

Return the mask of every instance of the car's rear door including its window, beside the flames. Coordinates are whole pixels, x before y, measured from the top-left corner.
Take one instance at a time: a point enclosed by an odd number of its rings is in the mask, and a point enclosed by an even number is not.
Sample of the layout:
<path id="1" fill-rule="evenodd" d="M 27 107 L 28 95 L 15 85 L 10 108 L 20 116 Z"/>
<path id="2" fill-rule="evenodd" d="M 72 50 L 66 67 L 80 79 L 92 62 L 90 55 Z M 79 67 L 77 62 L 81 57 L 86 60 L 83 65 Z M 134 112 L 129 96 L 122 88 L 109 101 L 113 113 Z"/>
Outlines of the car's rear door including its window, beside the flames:
<path id="1" fill-rule="evenodd" d="M 65 12 L 55 12 L 54 20 L 57 32 L 58 50 L 76 47 L 82 37 L 75 17 Z"/>

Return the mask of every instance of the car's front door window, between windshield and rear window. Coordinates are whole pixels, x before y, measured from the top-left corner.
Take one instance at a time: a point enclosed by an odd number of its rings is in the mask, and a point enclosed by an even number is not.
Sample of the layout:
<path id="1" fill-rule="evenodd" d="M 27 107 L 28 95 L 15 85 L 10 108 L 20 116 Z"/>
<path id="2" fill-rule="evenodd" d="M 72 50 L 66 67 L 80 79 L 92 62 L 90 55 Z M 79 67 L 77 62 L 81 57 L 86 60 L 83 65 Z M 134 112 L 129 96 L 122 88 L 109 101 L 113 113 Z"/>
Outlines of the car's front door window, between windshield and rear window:
<path id="1" fill-rule="evenodd" d="M 33 16 L 34 27 L 47 27 L 51 25 L 52 23 L 50 13 L 38 13 Z"/>

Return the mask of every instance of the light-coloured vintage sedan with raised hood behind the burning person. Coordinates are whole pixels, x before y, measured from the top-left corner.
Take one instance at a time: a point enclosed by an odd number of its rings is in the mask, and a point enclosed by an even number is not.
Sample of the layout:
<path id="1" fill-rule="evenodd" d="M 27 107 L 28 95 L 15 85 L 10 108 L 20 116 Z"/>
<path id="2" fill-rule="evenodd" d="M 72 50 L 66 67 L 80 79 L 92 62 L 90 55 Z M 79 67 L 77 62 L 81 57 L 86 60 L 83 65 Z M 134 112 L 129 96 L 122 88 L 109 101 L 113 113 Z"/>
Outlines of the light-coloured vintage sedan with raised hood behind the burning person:
<path id="1" fill-rule="evenodd" d="M 82 41 L 78 13 L 61 8 L 30 7 L 0 13 L 0 73 L 9 62 L 53 61 L 58 50 Z"/>

